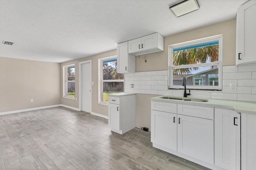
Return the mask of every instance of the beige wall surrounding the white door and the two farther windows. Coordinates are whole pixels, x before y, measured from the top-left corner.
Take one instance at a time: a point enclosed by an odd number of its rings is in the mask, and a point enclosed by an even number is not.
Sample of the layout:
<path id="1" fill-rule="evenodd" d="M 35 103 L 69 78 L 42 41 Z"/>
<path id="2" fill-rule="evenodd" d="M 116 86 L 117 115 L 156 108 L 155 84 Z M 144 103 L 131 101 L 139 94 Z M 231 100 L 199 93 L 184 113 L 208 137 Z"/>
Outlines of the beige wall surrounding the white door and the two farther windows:
<path id="1" fill-rule="evenodd" d="M 79 108 L 79 62 L 91 60 L 92 61 L 92 81 L 94 82 L 94 85 L 92 85 L 92 112 L 108 116 L 108 106 L 98 104 L 98 59 L 111 57 L 115 55 L 116 55 L 116 50 L 112 50 L 105 53 L 92 55 L 90 57 L 84 57 L 81 59 L 76 59 L 73 61 L 62 63 L 61 70 L 65 65 L 75 64 L 75 71 L 76 71 L 75 89 L 76 89 L 77 101 L 63 98 L 63 92 L 62 92 L 61 104 Z M 63 77 L 62 77 L 62 82 L 63 82 Z M 63 88 L 63 83 L 61 84 L 61 88 Z"/>

